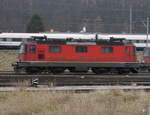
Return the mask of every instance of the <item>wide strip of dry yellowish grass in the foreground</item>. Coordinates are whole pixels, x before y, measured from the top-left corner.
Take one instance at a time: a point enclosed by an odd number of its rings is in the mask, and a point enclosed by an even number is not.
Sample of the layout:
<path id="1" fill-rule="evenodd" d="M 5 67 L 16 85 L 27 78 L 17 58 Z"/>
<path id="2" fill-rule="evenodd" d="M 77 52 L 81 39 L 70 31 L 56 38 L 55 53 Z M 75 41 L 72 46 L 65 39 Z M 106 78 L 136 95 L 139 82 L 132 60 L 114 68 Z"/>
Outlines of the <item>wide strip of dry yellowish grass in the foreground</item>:
<path id="1" fill-rule="evenodd" d="M 0 115 L 146 115 L 144 91 L 1 92 Z"/>

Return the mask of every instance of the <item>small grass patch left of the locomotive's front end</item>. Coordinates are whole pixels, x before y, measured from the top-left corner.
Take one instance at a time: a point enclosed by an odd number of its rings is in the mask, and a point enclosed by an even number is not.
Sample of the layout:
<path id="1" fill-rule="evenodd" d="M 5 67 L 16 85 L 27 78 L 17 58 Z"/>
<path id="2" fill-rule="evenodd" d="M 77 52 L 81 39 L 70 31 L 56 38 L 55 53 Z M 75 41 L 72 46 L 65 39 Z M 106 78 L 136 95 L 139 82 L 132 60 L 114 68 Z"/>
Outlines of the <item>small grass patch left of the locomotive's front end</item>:
<path id="1" fill-rule="evenodd" d="M 18 50 L 0 50 L 0 71 L 12 71 L 12 63 L 18 58 Z"/>

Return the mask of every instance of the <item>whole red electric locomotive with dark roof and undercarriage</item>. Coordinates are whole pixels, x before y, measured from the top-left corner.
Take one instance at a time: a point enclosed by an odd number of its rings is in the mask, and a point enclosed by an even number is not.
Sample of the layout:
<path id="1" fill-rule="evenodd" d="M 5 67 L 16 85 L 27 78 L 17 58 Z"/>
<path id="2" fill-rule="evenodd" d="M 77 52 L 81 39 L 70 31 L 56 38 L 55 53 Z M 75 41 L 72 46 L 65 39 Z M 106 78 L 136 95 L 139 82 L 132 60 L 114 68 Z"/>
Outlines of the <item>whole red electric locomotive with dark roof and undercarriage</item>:
<path id="1" fill-rule="evenodd" d="M 14 70 L 27 73 L 87 72 L 96 74 L 137 72 L 135 46 L 125 39 L 49 39 L 22 43 Z"/>

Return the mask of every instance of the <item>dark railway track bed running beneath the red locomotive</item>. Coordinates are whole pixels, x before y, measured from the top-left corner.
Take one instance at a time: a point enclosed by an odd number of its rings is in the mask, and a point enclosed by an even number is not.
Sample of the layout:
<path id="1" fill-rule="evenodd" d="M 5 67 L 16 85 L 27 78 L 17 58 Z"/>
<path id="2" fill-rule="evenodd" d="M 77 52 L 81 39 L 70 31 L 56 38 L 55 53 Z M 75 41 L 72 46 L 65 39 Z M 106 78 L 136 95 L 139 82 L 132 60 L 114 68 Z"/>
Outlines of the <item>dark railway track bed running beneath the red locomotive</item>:
<path id="1" fill-rule="evenodd" d="M 0 72 L 0 86 L 92 86 L 92 85 L 150 85 L 150 73 L 129 75 L 96 75 L 93 73 L 59 75 L 27 75 L 14 72 Z"/>

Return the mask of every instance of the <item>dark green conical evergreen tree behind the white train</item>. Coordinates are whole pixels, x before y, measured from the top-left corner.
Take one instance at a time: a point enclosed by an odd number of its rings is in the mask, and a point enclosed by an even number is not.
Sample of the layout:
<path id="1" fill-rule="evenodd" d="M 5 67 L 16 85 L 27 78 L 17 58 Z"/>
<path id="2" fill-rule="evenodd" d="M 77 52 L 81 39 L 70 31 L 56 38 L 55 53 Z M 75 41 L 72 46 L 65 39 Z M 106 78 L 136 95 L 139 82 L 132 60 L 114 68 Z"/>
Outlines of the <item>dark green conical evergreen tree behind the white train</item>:
<path id="1" fill-rule="evenodd" d="M 26 32 L 28 33 L 38 33 L 44 31 L 44 25 L 42 19 L 39 15 L 34 14 L 31 21 L 27 25 Z"/>

